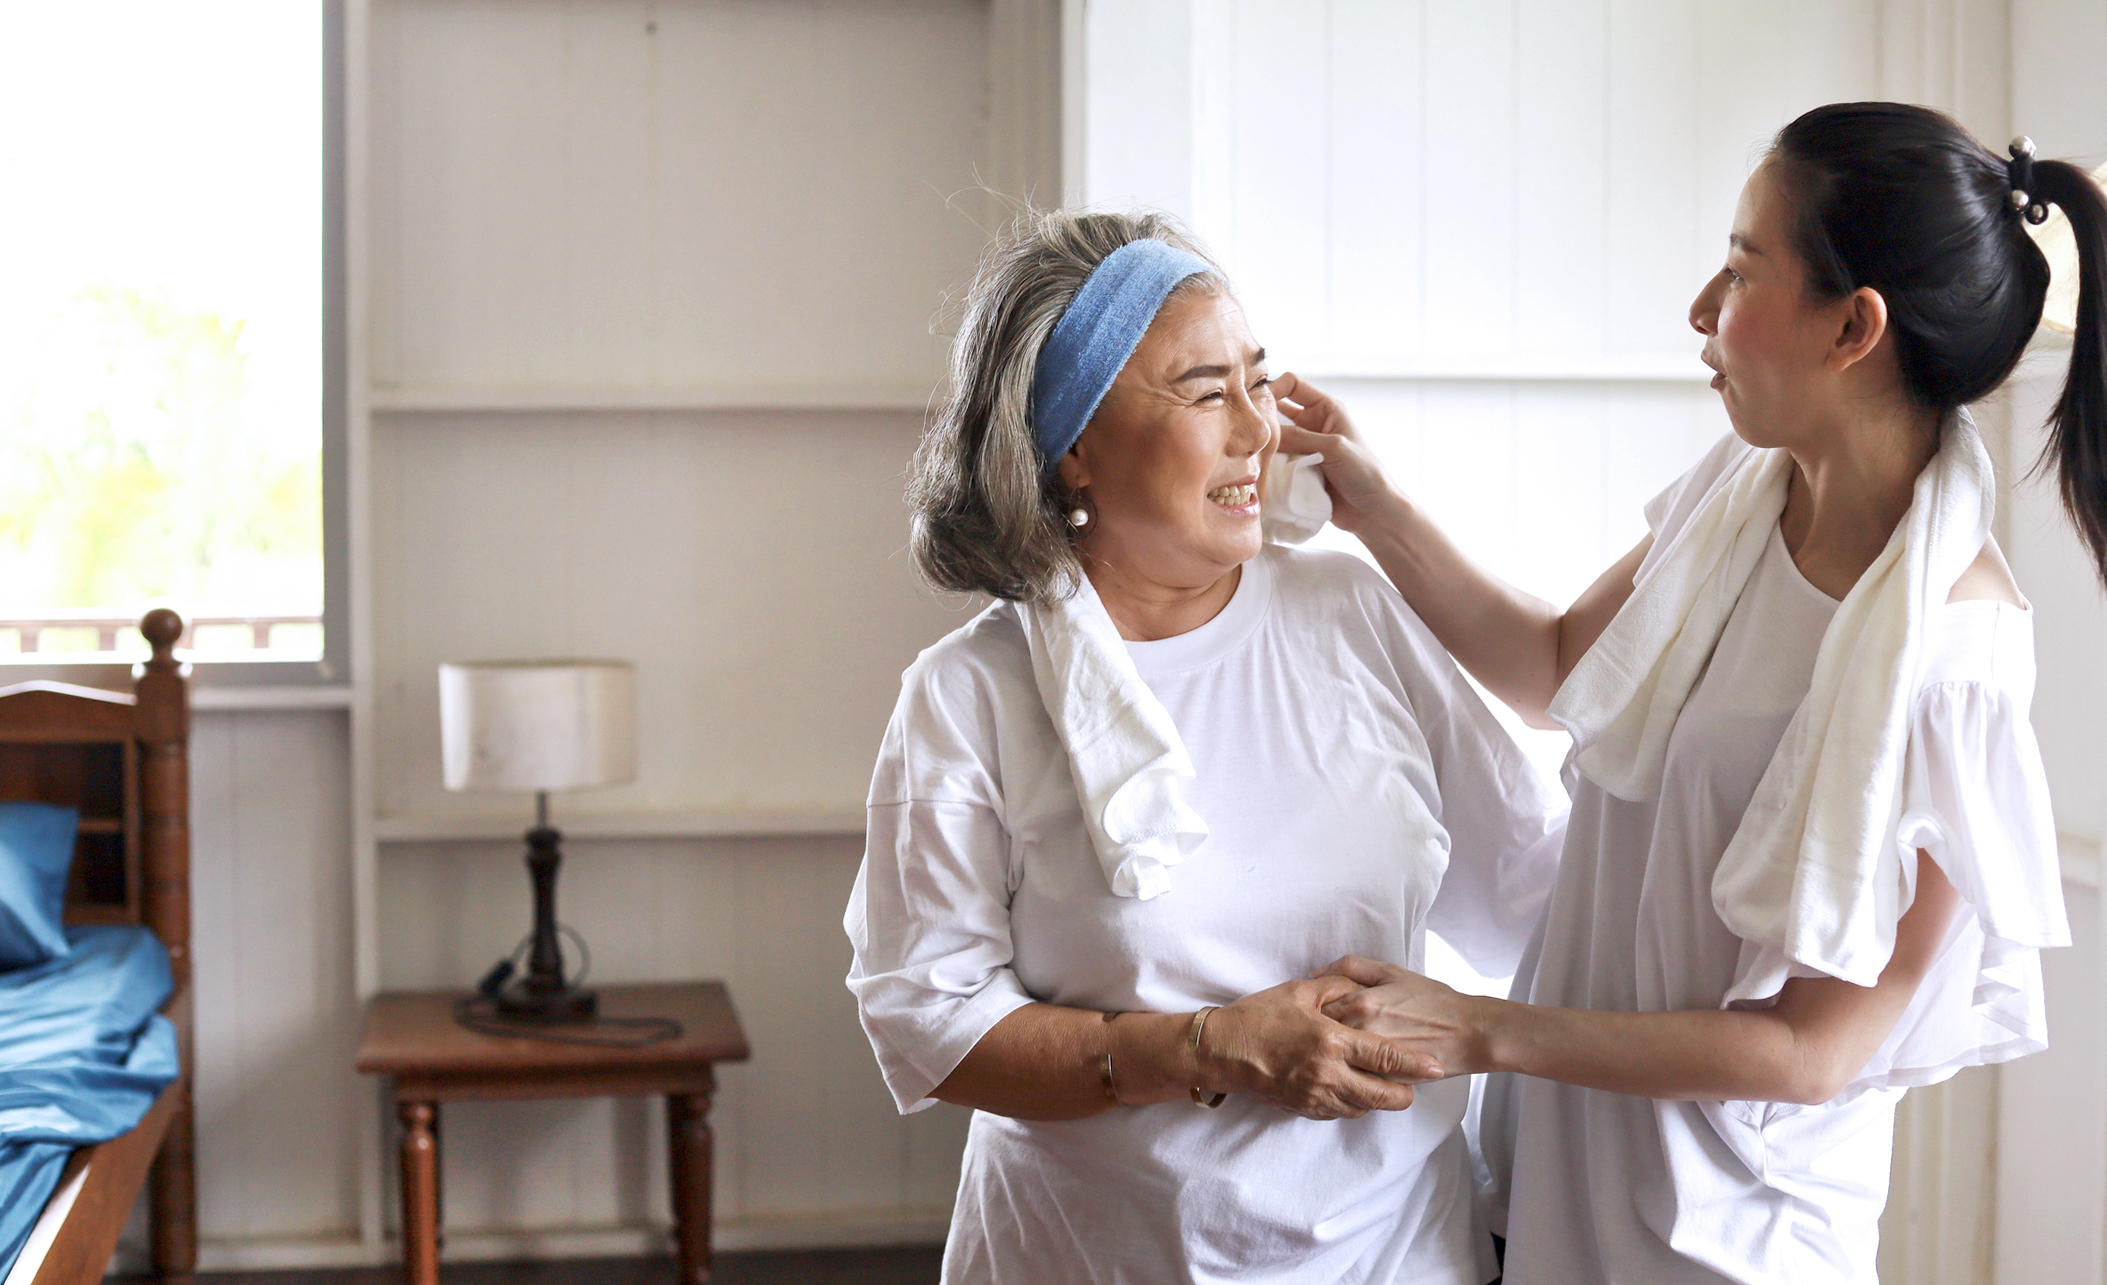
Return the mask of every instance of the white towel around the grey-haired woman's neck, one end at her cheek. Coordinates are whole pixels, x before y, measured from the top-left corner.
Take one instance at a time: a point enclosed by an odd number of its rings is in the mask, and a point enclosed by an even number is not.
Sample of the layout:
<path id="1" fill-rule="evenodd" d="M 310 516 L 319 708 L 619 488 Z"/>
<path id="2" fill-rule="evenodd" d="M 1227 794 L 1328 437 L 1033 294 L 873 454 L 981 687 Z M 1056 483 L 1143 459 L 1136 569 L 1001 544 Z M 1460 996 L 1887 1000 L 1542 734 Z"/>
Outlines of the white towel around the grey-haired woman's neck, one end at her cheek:
<path id="1" fill-rule="evenodd" d="M 1302 543 L 1330 520 L 1321 461 L 1275 455 L 1266 466 L 1266 539 Z M 1089 577 L 1051 607 L 1026 607 L 1024 636 L 1112 895 L 1146 902 L 1171 891 L 1169 868 L 1207 841 L 1207 822 L 1186 800 L 1197 775 L 1178 725 L 1134 668 Z"/>

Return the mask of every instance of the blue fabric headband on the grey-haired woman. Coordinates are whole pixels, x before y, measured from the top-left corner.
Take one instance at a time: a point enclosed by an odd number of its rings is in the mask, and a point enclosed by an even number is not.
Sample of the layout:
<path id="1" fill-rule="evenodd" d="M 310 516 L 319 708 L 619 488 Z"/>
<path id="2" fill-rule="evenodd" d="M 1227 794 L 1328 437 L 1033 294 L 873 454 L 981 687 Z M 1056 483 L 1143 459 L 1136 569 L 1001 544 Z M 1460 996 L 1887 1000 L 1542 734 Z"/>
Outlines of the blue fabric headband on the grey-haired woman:
<path id="1" fill-rule="evenodd" d="M 1039 466 L 1054 466 L 1083 436 L 1112 379 L 1157 320 L 1157 310 L 1188 276 L 1214 272 L 1199 255 L 1155 238 L 1131 240 L 1089 274 L 1060 314 L 1032 371 L 1032 438 Z"/>

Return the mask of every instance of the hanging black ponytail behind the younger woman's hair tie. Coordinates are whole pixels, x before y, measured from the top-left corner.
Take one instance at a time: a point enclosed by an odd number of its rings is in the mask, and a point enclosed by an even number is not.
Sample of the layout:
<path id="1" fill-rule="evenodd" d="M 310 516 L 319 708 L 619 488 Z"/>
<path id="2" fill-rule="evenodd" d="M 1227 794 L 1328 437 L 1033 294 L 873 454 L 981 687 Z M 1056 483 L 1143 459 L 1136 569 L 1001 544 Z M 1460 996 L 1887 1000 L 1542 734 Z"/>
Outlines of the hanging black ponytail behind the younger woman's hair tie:
<path id="1" fill-rule="evenodd" d="M 2048 415 L 2048 449 L 2063 510 L 2107 581 L 2107 194 L 2065 160 L 2033 162 L 2033 192 L 2063 211 L 2078 240 L 2078 331 L 2071 373 Z"/>

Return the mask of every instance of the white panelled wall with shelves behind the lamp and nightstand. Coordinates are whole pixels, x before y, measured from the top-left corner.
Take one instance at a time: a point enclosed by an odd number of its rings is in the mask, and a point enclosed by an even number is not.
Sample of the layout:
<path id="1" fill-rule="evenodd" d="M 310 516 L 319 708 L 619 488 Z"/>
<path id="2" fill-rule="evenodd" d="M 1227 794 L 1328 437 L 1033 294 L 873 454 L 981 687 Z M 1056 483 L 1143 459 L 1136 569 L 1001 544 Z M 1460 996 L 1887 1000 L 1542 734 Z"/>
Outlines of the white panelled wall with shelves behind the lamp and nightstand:
<path id="1" fill-rule="evenodd" d="M 356 674 L 348 710 L 198 718 L 202 1262 L 394 1256 L 362 994 L 468 986 L 529 923 L 527 800 L 438 788 L 432 670 L 476 655 L 638 661 L 643 773 L 558 798 L 560 906 L 596 980 L 731 986 L 718 1245 L 936 1239 L 965 1114 L 893 1112 L 841 910 L 898 672 L 965 619 L 900 482 L 976 183 L 1058 183 L 1058 4 L 348 29 Z M 449 1258 L 668 1249 L 657 1104 L 449 1106 L 445 1182 Z"/>

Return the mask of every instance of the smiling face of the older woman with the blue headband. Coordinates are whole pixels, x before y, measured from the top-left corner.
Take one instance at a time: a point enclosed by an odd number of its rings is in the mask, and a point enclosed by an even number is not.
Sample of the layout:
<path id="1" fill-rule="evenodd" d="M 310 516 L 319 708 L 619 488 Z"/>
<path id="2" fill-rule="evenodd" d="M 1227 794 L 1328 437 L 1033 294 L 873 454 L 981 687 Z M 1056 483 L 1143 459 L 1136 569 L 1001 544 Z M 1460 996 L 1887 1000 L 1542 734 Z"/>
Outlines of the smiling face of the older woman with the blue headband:
<path id="1" fill-rule="evenodd" d="M 1195 289 L 1163 303 L 1060 461 L 1096 508 L 1087 560 L 1201 590 L 1258 556 L 1258 474 L 1279 440 L 1264 362 L 1230 295 Z"/>

